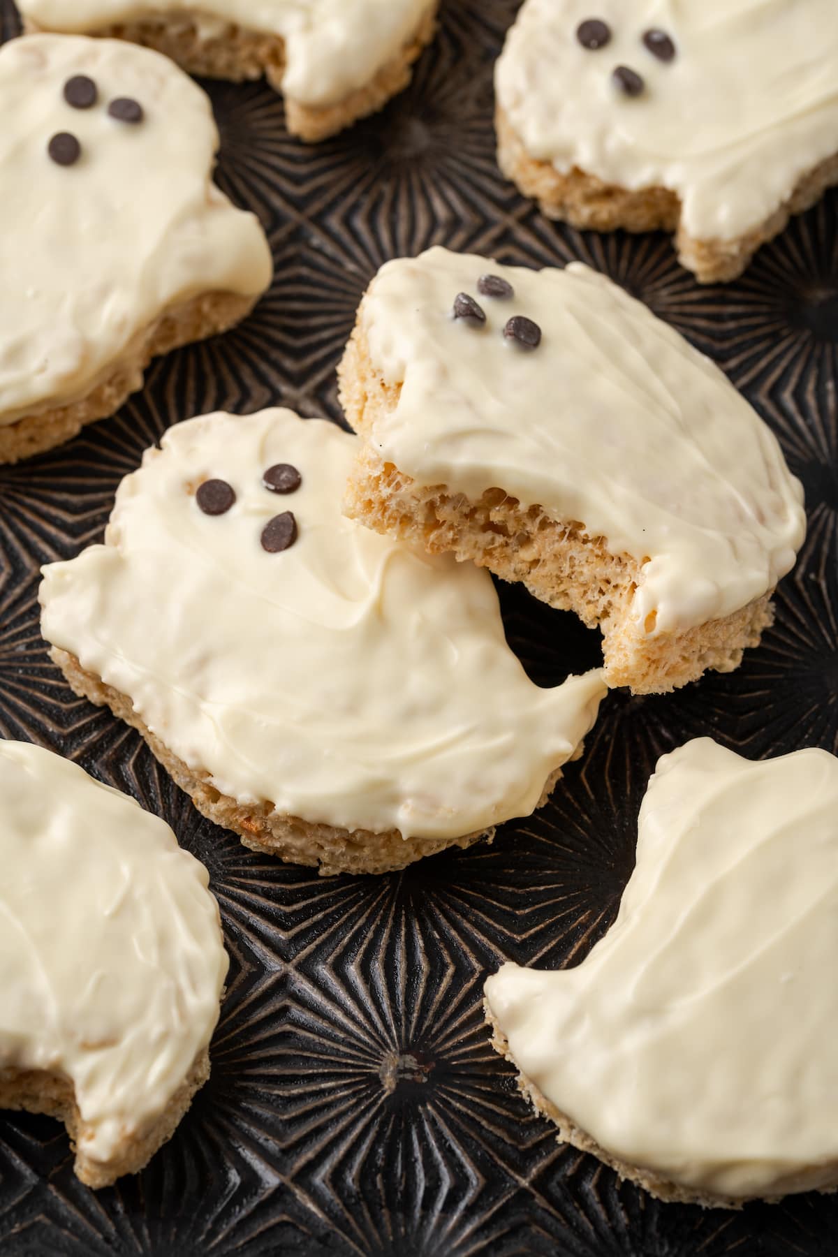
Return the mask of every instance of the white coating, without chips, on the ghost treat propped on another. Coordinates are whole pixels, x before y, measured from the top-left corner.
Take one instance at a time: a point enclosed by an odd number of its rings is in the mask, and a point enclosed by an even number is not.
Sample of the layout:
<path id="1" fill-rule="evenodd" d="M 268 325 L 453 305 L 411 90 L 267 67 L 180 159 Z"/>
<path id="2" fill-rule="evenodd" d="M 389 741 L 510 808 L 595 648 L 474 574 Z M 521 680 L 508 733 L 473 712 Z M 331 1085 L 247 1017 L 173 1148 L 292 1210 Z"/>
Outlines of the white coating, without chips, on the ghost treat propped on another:
<path id="1" fill-rule="evenodd" d="M 480 297 L 509 280 L 513 300 Z M 452 318 L 459 292 L 486 323 Z M 534 319 L 534 351 L 503 336 Z M 372 442 L 421 486 L 505 489 L 646 562 L 632 617 L 650 632 L 726 616 L 771 590 L 805 534 L 803 490 L 768 426 L 707 358 L 604 275 L 500 266 L 430 249 L 382 266 L 359 324 L 402 382 Z M 647 620 L 647 617 L 651 617 Z"/>

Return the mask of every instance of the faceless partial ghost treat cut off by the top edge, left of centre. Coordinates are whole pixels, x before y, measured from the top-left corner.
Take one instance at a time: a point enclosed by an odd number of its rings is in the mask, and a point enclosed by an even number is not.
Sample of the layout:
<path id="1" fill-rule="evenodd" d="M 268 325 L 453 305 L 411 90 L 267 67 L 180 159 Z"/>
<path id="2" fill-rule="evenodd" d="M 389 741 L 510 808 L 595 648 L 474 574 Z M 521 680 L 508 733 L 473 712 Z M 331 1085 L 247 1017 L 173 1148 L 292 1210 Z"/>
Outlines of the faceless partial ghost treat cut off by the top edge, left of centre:
<path id="1" fill-rule="evenodd" d="M 401 92 L 438 0 L 18 0 L 28 30 L 114 35 L 192 74 L 268 77 L 288 129 L 334 134 Z"/>

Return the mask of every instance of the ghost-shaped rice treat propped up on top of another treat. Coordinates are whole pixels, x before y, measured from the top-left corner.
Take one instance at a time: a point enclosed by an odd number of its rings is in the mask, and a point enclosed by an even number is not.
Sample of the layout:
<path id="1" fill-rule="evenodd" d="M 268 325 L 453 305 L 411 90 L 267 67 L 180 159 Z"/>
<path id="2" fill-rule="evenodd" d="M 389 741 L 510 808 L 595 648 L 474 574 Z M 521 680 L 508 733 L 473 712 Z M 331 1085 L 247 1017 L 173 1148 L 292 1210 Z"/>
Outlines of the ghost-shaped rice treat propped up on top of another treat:
<path id="1" fill-rule="evenodd" d="M 339 380 L 349 515 L 598 625 L 609 685 L 731 671 L 771 622 L 800 484 L 721 371 L 604 275 L 388 261 Z"/>

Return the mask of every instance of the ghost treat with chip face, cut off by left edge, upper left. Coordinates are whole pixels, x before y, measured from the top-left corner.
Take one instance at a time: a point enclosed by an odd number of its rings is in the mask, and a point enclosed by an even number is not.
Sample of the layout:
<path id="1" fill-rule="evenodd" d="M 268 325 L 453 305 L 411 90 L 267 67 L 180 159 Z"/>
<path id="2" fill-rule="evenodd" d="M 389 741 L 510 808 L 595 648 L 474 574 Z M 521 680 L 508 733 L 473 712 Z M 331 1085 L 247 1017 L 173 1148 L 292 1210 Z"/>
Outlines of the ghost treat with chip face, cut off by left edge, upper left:
<path id="1" fill-rule="evenodd" d="M 157 53 L 31 35 L 0 48 L 0 463 L 113 415 L 157 353 L 270 283 L 265 234 L 212 184 L 205 93 Z"/>

